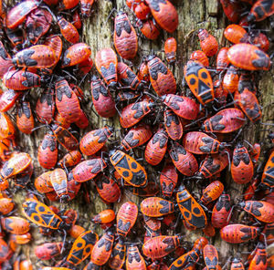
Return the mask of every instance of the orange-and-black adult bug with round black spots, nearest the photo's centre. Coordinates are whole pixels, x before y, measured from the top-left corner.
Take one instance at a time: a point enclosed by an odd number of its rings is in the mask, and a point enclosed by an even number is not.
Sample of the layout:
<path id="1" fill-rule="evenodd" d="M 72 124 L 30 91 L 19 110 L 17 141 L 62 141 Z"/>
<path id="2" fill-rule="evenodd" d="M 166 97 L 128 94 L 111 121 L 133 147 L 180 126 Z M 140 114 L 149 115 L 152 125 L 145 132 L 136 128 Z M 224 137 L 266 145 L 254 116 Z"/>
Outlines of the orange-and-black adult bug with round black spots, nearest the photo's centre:
<path id="1" fill-rule="evenodd" d="M 110 161 L 121 177 L 134 187 L 143 186 L 147 182 L 144 168 L 123 151 L 110 151 Z"/>

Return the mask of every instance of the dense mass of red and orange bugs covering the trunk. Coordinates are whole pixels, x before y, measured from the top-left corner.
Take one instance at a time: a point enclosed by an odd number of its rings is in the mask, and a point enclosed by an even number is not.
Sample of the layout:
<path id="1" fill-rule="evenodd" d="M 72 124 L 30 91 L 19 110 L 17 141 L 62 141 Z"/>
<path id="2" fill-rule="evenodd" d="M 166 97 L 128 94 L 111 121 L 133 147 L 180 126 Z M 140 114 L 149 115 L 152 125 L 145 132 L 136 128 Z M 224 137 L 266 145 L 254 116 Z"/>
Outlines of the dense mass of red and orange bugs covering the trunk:
<path id="1" fill-rule="evenodd" d="M 274 13 L 274 4 L 253 2 L 220 1 L 233 23 L 224 31 L 227 47 L 206 29 L 196 31 L 201 50 L 184 63 L 182 86 L 171 71 L 182 65 L 172 36 L 163 46 L 165 60 L 142 56 L 138 72 L 132 68 L 138 31 L 153 40 L 178 27 L 167 0 L 125 1 L 136 22 L 117 12 L 113 48 L 99 48 L 93 60 L 93 48 L 79 42 L 93 1 L 0 5 L 0 77 L 6 88 L 0 96 L 1 269 L 35 268 L 26 254 L 18 255 L 32 241 L 32 224 L 47 237 L 34 250 L 52 265 L 42 270 L 273 267 L 266 248 L 274 242 L 274 151 L 262 170 L 264 144 L 240 140 L 249 123 L 261 122 L 258 77 L 270 68 L 269 39 L 257 24 Z M 121 130 L 90 129 L 91 109 L 79 87 L 89 79 L 97 117 L 119 119 Z M 35 102 L 32 88 L 40 90 Z M 45 135 L 31 157 L 16 132 L 32 136 L 37 129 Z M 44 172 L 37 173 L 34 159 Z M 230 198 L 230 176 L 247 185 L 239 202 Z M 88 226 L 67 204 L 82 191 L 92 203 L 94 190 L 108 209 Z M 12 198 L 17 191 L 26 195 L 17 205 L 21 215 Z M 126 199 L 128 192 L 142 198 L 140 205 Z M 121 199 L 115 213 L 113 203 Z M 100 236 L 91 230 L 98 225 Z M 205 237 L 195 243 L 184 237 L 196 230 Z M 229 244 L 249 243 L 248 258 L 231 253 L 219 261 L 216 234 Z"/>

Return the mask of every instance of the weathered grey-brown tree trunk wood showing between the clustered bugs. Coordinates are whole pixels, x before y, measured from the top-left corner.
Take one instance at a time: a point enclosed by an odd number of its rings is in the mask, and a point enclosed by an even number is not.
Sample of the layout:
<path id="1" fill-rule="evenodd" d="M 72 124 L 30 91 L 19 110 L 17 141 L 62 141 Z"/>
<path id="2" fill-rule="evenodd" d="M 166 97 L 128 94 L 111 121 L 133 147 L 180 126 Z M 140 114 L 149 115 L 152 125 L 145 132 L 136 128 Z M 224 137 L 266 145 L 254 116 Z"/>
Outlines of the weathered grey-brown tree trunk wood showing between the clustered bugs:
<path id="1" fill-rule="evenodd" d="M 10 1 L 9 1 L 10 2 Z M 174 67 L 171 67 L 172 71 L 174 72 L 174 76 L 176 78 L 176 82 L 178 88 L 181 87 L 181 82 L 184 77 L 184 64 L 186 63 L 187 59 L 190 57 L 191 53 L 196 50 L 200 49 L 198 38 L 197 38 L 197 30 L 199 28 L 206 28 L 213 36 L 216 36 L 218 39 L 220 47 L 228 46 L 228 43 L 223 36 L 224 28 L 227 26 L 227 18 L 225 17 L 223 10 L 218 3 L 217 0 L 174 0 L 173 1 L 176 10 L 179 14 L 179 26 L 177 30 L 173 34 L 168 34 L 166 32 L 162 33 L 161 36 L 156 41 L 149 41 L 148 39 L 144 38 L 142 35 L 139 37 L 139 50 L 138 50 L 138 57 L 137 62 L 141 62 L 142 56 L 147 56 L 153 51 L 158 57 L 164 59 L 163 54 L 163 42 L 169 36 L 174 36 L 177 40 L 178 48 L 177 48 L 177 63 Z M 93 5 L 93 14 L 87 20 L 83 21 L 83 30 L 81 35 L 82 42 L 86 42 L 90 45 L 92 53 L 92 59 L 95 58 L 96 52 L 104 47 L 113 47 L 113 21 L 108 19 L 108 16 L 111 13 L 111 10 L 115 8 L 119 10 L 125 10 L 133 23 L 134 17 L 132 16 L 132 12 L 127 8 L 125 5 L 125 0 L 100 0 L 97 1 Z M 115 12 L 114 12 L 115 14 Z M 270 29 L 268 23 L 264 23 L 263 29 Z M 267 27 L 267 28 L 266 28 Z M 273 36 L 273 28 L 270 29 L 269 36 Z M 269 49 L 269 52 L 273 52 L 273 44 Z M 211 60 L 211 63 L 214 61 Z M 139 63 L 134 63 L 133 70 L 136 71 Z M 93 72 L 96 73 L 95 68 Z M 273 68 L 270 72 L 263 72 L 262 78 L 259 81 L 258 89 L 261 93 L 259 97 L 260 104 L 263 108 L 263 118 L 262 122 L 272 122 L 273 123 L 273 112 L 274 109 L 271 106 L 273 104 L 273 76 L 274 70 Z M 4 88 L 4 87 L 3 87 Z M 116 116 L 113 119 L 102 119 L 99 118 L 94 112 L 91 110 L 91 97 L 90 97 L 90 83 L 88 83 L 87 79 L 85 82 L 85 86 L 83 87 L 85 91 L 85 111 L 87 112 L 89 119 L 90 119 L 90 127 L 87 130 L 81 130 L 79 136 L 81 137 L 87 131 L 94 130 L 104 126 L 105 124 L 109 124 L 114 126 L 116 130 L 120 130 L 121 126 L 119 123 L 119 119 Z M 37 100 L 38 94 L 40 93 L 41 89 L 32 89 L 31 95 L 34 97 L 33 100 Z M 35 106 L 35 102 L 33 102 L 33 106 Z M 35 108 L 35 107 L 33 107 Z M 14 111 L 10 113 L 11 115 L 15 115 Z M 264 131 L 263 131 L 264 130 Z M 268 136 L 268 127 L 264 127 L 260 124 L 253 125 L 252 123 L 248 124 L 245 127 L 245 131 L 242 133 L 244 139 L 248 140 L 250 143 L 255 141 L 265 142 Z M 35 172 L 32 180 L 34 181 L 35 177 L 39 175 L 43 170 L 38 166 L 37 163 L 37 147 L 39 141 L 43 138 L 45 130 L 40 129 L 32 133 L 30 136 L 23 135 L 20 132 L 18 134 L 18 145 L 21 147 L 22 151 L 28 152 L 34 161 L 35 165 Z M 266 149 L 266 147 L 264 148 Z M 265 158 L 261 157 L 263 160 Z M 158 179 L 157 179 L 158 181 Z M 224 181 L 223 181 L 224 182 Z M 235 182 L 231 181 L 230 173 L 227 172 L 227 190 L 231 194 L 232 200 L 234 203 L 237 203 L 237 199 L 240 198 L 244 187 L 242 185 L 238 185 Z M 90 183 L 89 183 L 90 186 Z M 245 186 L 246 187 L 246 186 Z M 17 208 L 21 210 L 21 203 L 25 200 L 26 192 L 19 191 L 15 195 L 15 201 L 17 204 Z M 100 211 L 107 209 L 110 205 L 106 203 L 102 203 L 100 197 L 97 195 L 96 189 L 94 186 L 91 185 L 90 195 L 92 201 L 90 204 L 85 203 L 83 194 L 80 193 L 75 200 L 69 202 L 68 205 L 57 205 L 60 208 L 73 208 L 78 211 L 79 213 L 79 221 L 80 223 L 85 223 L 85 228 L 88 229 L 90 226 L 90 218 L 94 216 L 96 213 L 100 213 Z M 130 192 L 126 192 L 121 198 L 120 203 L 115 203 L 113 208 L 115 211 L 119 209 L 121 203 L 124 203 L 128 200 L 132 200 L 132 202 L 139 203 L 142 201 L 141 198 L 133 195 Z M 86 222 L 87 221 L 87 222 Z M 101 233 L 98 227 L 94 227 L 94 230 L 97 233 Z M 195 239 L 201 235 L 203 235 L 202 231 L 195 231 L 190 232 L 182 229 L 183 234 L 185 234 L 185 239 L 193 243 Z M 165 234 L 165 232 L 162 232 Z M 22 250 L 23 253 L 26 254 L 27 258 L 30 258 L 34 265 L 39 265 L 37 263 L 37 258 L 33 253 L 34 247 L 37 244 L 42 244 L 45 242 L 54 241 L 53 239 L 47 239 L 42 237 L 41 234 L 38 234 L 37 228 L 32 230 L 33 241 L 31 244 L 23 245 Z M 142 237 L 141 237 L 142 239 Z M 219 237 L 219 233 L 216 232 L 216 236 L 211 239 L 211 244 L 215 244 L 218 253 L 219 259 L 224 264 L 227 261 L 227 258 L 232 254 L 237 254 L 242 251 L 242 247 L 237 245 L 227 244 L 226 242 L 222 241 Z M 233 249 L 233 253 L 232 253 Z M 269 249 L 270 251 L 270 249 Z M 52 264 L 53 262 L 51 262 Z M 37 266 L 34 266 L 37 269 Z M 79 268 L 78 268 L 79 269 Z"/>

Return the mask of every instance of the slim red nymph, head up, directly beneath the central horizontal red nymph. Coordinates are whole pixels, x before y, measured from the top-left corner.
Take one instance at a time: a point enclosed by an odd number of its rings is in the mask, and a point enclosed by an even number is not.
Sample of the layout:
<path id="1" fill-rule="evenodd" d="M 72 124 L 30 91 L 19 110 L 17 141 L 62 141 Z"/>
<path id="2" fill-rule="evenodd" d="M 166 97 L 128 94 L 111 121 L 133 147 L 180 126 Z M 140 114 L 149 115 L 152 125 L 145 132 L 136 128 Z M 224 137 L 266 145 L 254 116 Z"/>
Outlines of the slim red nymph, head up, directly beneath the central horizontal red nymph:
<path id="1" fill-rule="evenodd" d="M 183 136 L 183 125 L 172 109 L 166 108 L 163 114 L 164 126 L 172 140 L 180 140 Z"/>

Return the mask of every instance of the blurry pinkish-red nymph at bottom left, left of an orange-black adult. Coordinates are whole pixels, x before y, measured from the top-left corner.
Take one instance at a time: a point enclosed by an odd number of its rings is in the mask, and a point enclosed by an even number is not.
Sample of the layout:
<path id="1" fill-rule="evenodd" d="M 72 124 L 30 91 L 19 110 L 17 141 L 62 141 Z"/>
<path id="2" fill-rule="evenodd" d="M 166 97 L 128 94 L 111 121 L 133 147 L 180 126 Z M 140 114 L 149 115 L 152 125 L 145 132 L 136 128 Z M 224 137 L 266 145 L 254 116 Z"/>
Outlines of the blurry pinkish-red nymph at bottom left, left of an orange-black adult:
<path id="1" fill-rule="evenodd" d="M 36 246 L 35 254 L 40 260 L 50 260 L 61 254 L 62 248 L 62 242 L 40 244 Z"/>

